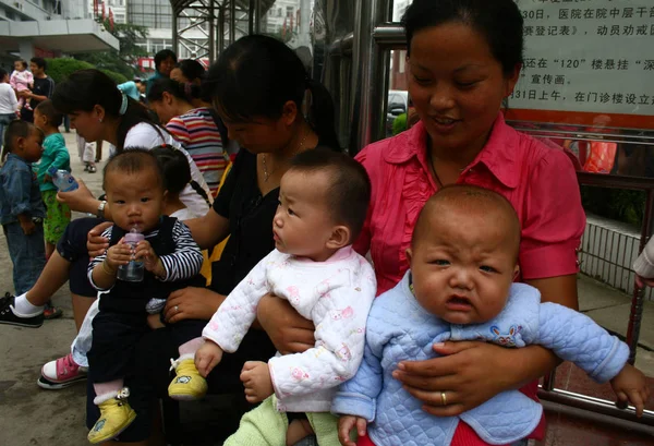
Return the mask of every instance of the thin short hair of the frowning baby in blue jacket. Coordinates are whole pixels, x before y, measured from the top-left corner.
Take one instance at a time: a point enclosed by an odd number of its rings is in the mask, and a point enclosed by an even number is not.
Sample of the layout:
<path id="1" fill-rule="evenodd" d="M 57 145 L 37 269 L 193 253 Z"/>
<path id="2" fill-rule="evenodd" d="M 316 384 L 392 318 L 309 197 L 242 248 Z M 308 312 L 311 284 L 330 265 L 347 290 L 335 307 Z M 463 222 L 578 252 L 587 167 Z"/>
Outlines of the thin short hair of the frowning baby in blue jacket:
<path id="1" fill-rule="evenodd" d="M 447 185 L 427 200 L 413 228 L 411 245 L 415 248 L 423 231 L 433 230 L 433 228 L 424 228 L 432 213 L 440 213 L 439 215 L 447 218 L 447 213 L 451 210 L 465 213 L 470 218 L 491 216 L 494 218 L 493 221 L 504 224 L 506 230 L 512 236 L 511 248 L 518 260 L 522 229 L 513 205 L 497 192 L 470 184 Z"/>

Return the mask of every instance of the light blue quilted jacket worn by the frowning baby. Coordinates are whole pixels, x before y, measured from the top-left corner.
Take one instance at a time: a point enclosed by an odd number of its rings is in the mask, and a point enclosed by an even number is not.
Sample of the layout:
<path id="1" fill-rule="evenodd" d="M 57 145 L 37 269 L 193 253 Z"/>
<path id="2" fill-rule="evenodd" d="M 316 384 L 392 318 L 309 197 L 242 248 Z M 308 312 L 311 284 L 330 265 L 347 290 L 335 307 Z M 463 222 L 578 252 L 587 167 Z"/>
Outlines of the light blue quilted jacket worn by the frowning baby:
<path id="1" fill-rule="evenodd" d="M 593 379 L 616 376 L 629 348 L 590 317 L 556 303 L 541 303 L 538 290 L 511 285 L 507 303 L 494 320 L 475 325 L 449 324 L 424 310 L 409 289 L 409 274 L 373 303 L 365 333 L 363 362 L 342 384 L 331 411 L 365 418 L 377 446 L 441 446 L 452 441 L 460 421 L 486 443 L 499 445 L 526 437 L 543 408 L 519 390 L 496 395 L 459 417 L 434 417 L 392 377 L 400 361 L 435 358 L 435 342 L 486 340 L 505 347 L 538 343 L 572 361 Z"/>

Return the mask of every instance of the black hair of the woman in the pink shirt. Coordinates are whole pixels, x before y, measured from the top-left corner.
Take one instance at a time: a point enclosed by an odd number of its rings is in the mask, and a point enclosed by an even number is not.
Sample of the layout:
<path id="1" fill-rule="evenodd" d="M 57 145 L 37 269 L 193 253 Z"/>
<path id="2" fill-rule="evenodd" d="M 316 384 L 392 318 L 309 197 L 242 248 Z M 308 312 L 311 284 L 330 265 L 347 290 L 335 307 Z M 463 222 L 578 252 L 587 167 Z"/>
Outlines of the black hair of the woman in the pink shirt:
<path id="1" fill-rule="evenodd" d="M 513 0 L 414 0 L 402 16 L 408 52 L 415 33 L 446 23 L 462 23 L 481 33 L 505 74 L 522 63 L 523 20 Z"/>

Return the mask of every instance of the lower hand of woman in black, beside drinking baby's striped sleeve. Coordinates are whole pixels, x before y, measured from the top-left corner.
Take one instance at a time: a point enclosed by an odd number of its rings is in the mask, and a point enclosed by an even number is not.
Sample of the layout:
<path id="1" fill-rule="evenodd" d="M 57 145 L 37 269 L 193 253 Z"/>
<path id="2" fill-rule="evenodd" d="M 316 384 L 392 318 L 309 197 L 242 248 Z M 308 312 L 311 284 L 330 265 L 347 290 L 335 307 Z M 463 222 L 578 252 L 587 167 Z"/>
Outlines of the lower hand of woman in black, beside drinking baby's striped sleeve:
<path id="1" fill-rule="evenodd" d="M 225 296 L 207 288 L 186 287 L 170 293 L 164 309 L 164 318 L 169 324 L 183 320 L 209 321 Z"/>

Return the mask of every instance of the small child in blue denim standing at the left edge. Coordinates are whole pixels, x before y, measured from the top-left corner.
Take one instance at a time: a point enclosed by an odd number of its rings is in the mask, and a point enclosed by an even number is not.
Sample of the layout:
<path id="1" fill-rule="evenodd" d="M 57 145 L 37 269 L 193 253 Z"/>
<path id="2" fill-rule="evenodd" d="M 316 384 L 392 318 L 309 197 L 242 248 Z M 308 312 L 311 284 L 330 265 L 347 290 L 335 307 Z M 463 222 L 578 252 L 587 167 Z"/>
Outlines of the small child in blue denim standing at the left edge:
<path id="1" fill-rule="evenodd" d="M 25 121 L 12 121 L 4 132 L 0 169 L 0 224 L 13 263 L 15 294 L 29 290 L 46 264 L 46 209 L 32 164 L 44 152 L 44 134 Z"/>

